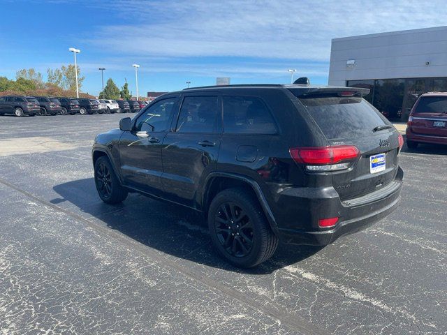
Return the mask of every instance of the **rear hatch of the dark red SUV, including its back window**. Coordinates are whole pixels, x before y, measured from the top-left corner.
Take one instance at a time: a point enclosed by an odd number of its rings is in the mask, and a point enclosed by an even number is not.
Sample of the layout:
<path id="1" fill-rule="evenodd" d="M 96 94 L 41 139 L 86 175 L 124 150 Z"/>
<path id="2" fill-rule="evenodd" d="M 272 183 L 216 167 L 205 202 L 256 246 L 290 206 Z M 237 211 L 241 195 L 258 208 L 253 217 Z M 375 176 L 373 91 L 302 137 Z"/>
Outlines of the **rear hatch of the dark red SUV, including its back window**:
<path id="1" fill-rule="evenodd" d="M 447 137 L 447 96 L 420 97 L 409 126 L 415 134 Z"/>

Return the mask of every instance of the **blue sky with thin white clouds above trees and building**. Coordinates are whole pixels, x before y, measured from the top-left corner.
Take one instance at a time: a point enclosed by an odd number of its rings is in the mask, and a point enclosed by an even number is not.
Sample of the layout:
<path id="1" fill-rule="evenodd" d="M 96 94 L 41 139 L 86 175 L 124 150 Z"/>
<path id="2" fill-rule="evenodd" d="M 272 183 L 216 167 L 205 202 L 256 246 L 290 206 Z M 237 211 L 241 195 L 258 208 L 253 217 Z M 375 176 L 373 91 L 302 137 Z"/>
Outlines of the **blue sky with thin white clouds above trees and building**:
<path id="1" fill-rule="evenodd" d="M 0 76 L 20 68 L 73 63 L 81 50 L 82 91 L 101 90 L 99 67 L 135 94 L 132 64 L 140 64 L 140 95 L 215 84 L 328 81 L 330 40 L 446 24 L 445 1 L 307 0 L 0 0 Z"/>

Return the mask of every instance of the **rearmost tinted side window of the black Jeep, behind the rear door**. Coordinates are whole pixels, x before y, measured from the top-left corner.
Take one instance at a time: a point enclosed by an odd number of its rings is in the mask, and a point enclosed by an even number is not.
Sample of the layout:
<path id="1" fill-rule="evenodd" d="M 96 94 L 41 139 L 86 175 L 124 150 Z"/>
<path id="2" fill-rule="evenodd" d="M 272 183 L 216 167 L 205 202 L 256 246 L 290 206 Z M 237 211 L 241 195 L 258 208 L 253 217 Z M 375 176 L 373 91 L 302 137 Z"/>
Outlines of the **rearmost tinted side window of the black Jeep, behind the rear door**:
<path id="1" fill-rule="evenodd" d="M 276 134 L 267 106 L 254 96 L 223 96 L 224 133 Z"/>

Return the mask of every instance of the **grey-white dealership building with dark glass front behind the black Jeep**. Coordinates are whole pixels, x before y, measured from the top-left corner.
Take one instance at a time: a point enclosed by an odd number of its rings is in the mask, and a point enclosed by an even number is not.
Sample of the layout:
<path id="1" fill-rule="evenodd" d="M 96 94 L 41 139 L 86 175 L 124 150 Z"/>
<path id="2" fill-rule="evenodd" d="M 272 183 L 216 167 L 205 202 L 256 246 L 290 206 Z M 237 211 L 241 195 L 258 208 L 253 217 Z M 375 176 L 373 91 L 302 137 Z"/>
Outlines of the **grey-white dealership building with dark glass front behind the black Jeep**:
<path id="1" fill-rule="evenodd" d="M 378 110 L 405 120 L 420 94 L 447 91 L 447 27 L 334 38 L 329 84 L 366 87 Z"/>

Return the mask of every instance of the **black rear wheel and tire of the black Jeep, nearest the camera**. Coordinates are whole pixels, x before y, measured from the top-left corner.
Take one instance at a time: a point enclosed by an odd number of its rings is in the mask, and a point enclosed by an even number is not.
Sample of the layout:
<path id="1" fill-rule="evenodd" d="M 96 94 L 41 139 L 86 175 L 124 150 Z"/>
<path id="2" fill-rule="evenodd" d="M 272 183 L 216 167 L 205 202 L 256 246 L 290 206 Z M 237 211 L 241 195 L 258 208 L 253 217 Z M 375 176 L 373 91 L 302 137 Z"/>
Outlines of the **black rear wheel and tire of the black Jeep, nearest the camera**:
<path id="1" fill-rule="evenodd" d="M 219 255 L 236 267 L 265 262 L 279 243 L 258 200 L 244 188 L 228 188 L 214 197 L 208 228 Z"/>

